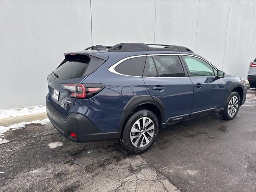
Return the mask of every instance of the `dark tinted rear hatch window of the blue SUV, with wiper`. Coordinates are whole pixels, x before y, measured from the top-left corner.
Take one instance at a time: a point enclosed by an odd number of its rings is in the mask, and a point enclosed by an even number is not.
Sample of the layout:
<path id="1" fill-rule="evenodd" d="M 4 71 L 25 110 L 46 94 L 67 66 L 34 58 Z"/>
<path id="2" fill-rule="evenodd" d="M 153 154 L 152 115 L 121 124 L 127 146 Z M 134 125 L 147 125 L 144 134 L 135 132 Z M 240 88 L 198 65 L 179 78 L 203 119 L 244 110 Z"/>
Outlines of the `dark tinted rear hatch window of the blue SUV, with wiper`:
<path id="1" fill-rule="evenodd" d="M 73 79 L 88 76 L 99 68 L 105 60 L 87 55 L 66 55 L 64 61 L 54 71 L 59 79 Z"/>

